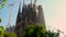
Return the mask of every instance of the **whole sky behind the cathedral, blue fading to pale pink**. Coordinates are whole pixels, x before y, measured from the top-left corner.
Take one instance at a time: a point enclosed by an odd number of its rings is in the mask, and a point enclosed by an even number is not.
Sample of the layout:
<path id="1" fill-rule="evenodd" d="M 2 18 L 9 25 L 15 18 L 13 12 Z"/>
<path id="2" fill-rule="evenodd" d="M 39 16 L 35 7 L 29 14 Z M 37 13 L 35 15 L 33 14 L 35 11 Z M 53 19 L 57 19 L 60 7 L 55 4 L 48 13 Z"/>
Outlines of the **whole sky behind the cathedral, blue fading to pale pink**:
<path id="1" fill-rule="evenodd" d="M 0 17 L 2 18 L 0 25 L 4 27 L 9 22 L 9 13 L 11 10 L 9 4 L 11 2 L 14 3 L 11 25 L 15 25 L 20 0 L 8 0 L 6 7 L 0 10 Z M 30 3 L 30 0 L 26 0 L 26 3 Z M 58 28 L 66 34 L 66 0 L 37 0 L 37 5 L 38 4 L 43 5 L 46 26 Z"/>

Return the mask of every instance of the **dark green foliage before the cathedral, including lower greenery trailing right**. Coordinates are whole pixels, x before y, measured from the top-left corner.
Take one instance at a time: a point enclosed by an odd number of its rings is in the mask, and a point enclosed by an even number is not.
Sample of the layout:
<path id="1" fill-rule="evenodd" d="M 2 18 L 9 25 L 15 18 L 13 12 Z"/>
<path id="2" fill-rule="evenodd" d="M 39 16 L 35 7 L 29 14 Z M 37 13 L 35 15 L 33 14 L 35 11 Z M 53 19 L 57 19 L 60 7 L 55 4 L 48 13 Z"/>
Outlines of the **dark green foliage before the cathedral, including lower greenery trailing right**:
<path id="1" fill-rule="evenodd" d="M 58 37 L 59 33 L 46 30 L 43 25 L 28 25 L 24 37 Z"/>

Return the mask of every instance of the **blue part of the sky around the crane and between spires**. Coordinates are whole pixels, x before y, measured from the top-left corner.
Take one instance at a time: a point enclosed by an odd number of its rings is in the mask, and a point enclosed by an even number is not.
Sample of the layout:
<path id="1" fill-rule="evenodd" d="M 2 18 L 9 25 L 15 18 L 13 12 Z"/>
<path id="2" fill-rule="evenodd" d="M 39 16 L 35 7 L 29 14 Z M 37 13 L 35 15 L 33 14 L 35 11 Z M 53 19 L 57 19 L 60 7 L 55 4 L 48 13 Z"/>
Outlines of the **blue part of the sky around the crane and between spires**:
<path id="1" fill-rule="evenodd" d="M 20 0 L 21 2 L 23 0 Z M 18 10 L 19 10 L 19 0 L 8 0 L 4 8 L 0 10 L 0 17 L 2 18 L 1 25 L 7 27 L 8 23 L 9 23 L 9 14 L 11 11 L 11 8 L 9 4 L 13 3 L 13 11 L 12 11 L 12 15 L 11 15 L 11 25 L 15 25 L 15 20 L 16 20 L 16 14 L 18 14 Z M 30 3 L 30 0 L 25 0 L 25 3 Z M 40 2 L 38 2 L 40 3 Z M 37 4 L 38 4 L 37 3 Z M 23 4 L 23 2 L 22 2 Z"/>

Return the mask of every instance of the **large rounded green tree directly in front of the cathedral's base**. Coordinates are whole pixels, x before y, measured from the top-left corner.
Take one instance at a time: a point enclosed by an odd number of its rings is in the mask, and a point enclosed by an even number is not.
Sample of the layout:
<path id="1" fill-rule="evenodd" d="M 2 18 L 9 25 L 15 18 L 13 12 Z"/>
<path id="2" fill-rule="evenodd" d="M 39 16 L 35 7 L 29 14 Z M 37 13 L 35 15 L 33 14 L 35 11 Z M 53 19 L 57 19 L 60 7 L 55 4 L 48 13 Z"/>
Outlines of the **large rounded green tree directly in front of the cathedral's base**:
<path id="1" fill-rule="evenodd" d="M 42 25 L 28 25 L 24 37 L 43 37 L 46 28 Z"/>

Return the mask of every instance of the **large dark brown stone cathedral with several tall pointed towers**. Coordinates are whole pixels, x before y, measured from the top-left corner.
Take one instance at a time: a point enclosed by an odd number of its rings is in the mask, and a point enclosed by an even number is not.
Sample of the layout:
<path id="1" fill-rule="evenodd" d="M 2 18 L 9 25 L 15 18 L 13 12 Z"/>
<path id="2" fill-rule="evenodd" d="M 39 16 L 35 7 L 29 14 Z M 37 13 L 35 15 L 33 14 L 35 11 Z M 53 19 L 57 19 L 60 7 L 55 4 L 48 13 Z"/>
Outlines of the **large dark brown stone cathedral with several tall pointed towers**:
<path id="1" fill-rule="evenodd" d="M 31 25 L 41 24 L 44 25 L 45 27 L 43 8 L 42 5 L 38 7 L 36 5 L 36 0 L 34 1 L 34 3 L 31 0 L 31 3 L 29 4 L 25 4 L 25 1 L 23 0 L 22 12 L 21 12 L 21 2 L 20 2 L 18 15 L 16 15 L 15 29 L 14 29 L 18 37 L 22 37 L 21 35 L 24 34 L 24 29 L 29 24 Z"/>

